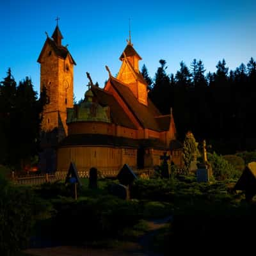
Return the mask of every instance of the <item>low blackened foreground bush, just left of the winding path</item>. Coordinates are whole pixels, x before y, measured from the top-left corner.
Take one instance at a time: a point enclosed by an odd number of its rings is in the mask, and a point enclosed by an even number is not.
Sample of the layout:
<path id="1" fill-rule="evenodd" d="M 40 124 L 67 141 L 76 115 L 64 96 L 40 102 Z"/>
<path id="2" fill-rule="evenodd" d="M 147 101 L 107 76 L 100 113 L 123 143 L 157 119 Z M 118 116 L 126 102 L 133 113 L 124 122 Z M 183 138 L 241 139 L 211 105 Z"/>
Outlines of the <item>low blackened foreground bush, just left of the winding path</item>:
<path id="1" fill-rule="evenodd" d="M 124 228 L 132 227 L 141 219 L 138 202 L 120 200 L 115 196 L 66 203 L 62 200 L 54 207 L 57 211 L 52 220 L 54 236 L 70 244 L 118 237 Z"/>

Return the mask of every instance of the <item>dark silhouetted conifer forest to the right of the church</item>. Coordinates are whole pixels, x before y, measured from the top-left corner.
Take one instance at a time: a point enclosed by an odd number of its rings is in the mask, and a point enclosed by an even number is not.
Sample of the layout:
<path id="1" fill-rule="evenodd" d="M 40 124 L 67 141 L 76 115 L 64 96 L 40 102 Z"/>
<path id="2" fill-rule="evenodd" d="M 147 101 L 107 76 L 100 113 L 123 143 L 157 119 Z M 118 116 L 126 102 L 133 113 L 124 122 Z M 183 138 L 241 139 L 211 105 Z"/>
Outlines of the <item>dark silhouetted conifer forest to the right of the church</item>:
<path id="1" fill-rule="evenodd" d="M 256 61 L 229 70 L 225 60 L 215 72 L 205 74 L 202 60 L 184 61 L 176 74 L 166 73 L 159 60 L 154 79 L 145 65 L 141 74 L 148 83 L 148 97 L 163 114 L 173 109 L 178 138 L 191 130 L 197 140 L 206 139 L 222 154 L 256 148 L 253 118 L 256 114 Z"/>

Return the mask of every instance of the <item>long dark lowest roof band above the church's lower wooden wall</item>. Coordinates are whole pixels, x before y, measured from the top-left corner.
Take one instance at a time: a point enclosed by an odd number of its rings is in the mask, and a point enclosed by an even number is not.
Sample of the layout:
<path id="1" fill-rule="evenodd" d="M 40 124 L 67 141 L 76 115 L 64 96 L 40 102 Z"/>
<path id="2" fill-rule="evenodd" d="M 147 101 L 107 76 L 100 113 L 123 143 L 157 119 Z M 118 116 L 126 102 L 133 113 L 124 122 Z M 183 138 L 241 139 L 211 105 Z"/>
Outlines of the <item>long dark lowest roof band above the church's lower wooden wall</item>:
<path id="1" fill-rule="evenodd" d="M 117 137 L 107 134 L 70 134 L 64 138 L 59 147 L 81 145 L 100 145 L 105 147 L 124 148 L 158 148 L 166 149 L 166 146 L 159 139 L 136 140 L 132 138 Z"/>

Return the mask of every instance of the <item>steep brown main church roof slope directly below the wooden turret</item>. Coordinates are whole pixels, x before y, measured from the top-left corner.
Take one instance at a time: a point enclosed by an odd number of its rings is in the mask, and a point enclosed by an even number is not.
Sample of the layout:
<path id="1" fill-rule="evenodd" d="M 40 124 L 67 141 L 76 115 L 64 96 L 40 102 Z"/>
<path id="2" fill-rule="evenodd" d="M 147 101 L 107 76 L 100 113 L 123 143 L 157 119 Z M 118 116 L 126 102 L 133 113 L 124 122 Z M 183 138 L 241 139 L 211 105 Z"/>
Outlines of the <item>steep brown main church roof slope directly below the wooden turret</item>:
<path id="1" fill-rule="evenodd" d="M 130 88 L 122 84 L 120 81 L 111 77 L 110 83 L 120 95 L 122 100 L 127 104 L 133 115 L 137 118 L 143 128 L 154 131 L 168 131 L 170 126 L 170 118 L 157 118 L 161 116 L 159 110 L 154 106 L 152 101 L 148 99 L 148 106 L 140 103 L 131 92 Z M 164 122 L 166 122 L 164 124 Z"/>

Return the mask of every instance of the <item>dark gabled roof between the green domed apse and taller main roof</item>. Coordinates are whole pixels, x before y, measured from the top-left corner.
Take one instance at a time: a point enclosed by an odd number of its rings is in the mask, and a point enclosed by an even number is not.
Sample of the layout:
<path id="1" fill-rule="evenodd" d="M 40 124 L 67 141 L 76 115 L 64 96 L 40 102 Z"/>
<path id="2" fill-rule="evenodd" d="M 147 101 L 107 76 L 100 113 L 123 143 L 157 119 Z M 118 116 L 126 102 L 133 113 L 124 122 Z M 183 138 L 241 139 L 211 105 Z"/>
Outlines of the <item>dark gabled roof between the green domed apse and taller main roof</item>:
<path id="1" fill-rule="evenodd" d="M 110 115 L 114 124 L 136 129 L 136 126 L 132 123 L 124 109 L 118 104 L 111 93 L 106 92 L 97 86 L 92 86 L 91 90 L 100 105 L 110 107 Z"/>

